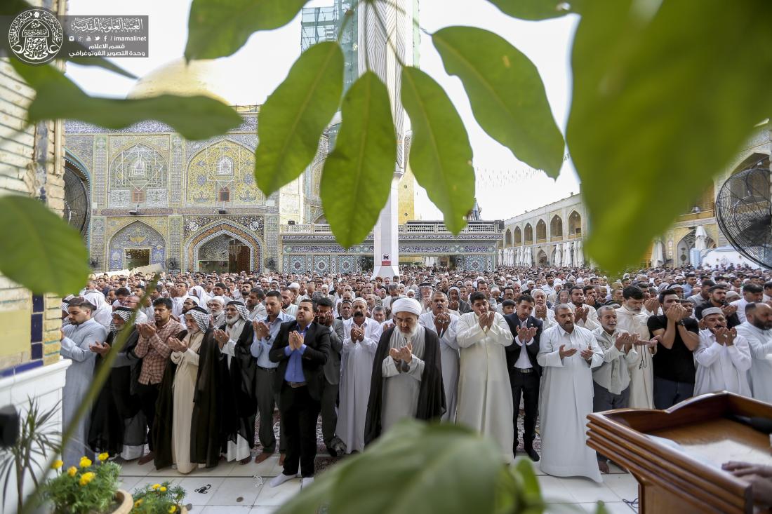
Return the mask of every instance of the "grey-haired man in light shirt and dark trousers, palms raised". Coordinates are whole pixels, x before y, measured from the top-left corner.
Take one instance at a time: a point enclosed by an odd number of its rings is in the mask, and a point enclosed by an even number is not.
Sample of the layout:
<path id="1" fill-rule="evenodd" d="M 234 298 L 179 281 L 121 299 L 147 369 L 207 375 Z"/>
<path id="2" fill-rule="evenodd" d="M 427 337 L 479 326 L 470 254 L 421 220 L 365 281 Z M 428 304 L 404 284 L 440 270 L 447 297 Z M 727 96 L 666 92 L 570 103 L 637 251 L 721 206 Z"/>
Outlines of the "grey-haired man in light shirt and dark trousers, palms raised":
<path id="1" fill-rule="evenodd" d="M 635 286 L 628 286 L 635 287 Z M 602 306 L 598 309 L 601 328 L 593 330 L 598 346 L 603 350 L 603 364 L 592 371 L 592 411 L 602 412 L 629 406 L 630 374 L 628 367 L 638 361 L 637 334 L 621 332 L 617 323 L 618 309 Z M 645 351 L 645 348 L 641 348 Z M 608 473 L 608 458 L 598 453 L 598 468 Z"/>

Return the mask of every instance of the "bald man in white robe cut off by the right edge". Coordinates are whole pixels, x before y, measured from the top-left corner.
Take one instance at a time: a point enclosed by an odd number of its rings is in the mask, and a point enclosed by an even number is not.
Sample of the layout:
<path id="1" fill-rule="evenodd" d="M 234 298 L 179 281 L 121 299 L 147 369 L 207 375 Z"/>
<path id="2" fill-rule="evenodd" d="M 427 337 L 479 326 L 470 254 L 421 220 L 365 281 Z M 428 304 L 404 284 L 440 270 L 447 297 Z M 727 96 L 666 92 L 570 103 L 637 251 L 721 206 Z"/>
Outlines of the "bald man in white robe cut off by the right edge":
<path id="1" fill-rule="evenodd" d="M 772 306 L 749 303 L 745 306 L 745 323 L 736 327 L 750 347 L 748 381 L 753 397 L 772 403 Z"/>

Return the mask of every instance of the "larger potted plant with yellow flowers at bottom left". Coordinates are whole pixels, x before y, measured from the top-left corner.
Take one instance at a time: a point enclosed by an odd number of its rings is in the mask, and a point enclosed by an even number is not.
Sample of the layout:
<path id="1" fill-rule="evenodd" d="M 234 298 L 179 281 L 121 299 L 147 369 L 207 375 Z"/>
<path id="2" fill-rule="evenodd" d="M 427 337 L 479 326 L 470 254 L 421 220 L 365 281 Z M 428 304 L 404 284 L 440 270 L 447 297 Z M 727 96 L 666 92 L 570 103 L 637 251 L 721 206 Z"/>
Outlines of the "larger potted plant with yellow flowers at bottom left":
<path id="1" fill-rule="evenodd" d="M 127 514 L 134 502 L 128 492 L 118 489 L 120 466 L 105 462 L 108 457 L 100 454 L 97 465 L 83 457 L 79 467 L 67 469 L 55 461 L 52 467 L 59 474 L 43 484 L 42 499 L 53 504 L 55 514 Z"/>

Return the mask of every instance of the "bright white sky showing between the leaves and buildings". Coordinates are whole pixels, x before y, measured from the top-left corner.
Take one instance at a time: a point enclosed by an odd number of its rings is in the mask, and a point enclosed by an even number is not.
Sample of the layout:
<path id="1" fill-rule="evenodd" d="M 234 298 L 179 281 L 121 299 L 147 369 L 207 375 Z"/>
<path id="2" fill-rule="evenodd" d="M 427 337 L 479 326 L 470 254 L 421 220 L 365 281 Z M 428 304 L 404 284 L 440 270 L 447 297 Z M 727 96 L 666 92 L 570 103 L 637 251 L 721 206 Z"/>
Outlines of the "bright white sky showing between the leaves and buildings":
<path id="1" fill-rule="evenodd" d="M 333 0 L 311 0 L 307 6 L 332 5 Z M 115 59 L 143 76 L 179 59 L 187 40 L 189 0 L 69 0 L 69 15 L 148 15 L 149 56 Z M 570 48 L 578 17 L 567 15 L 543 22 L 524 22 L 504 15 L 486 0 L 421 0 L 419 22 L 428 32 L 449 25 L 471 25 L 496 32 L 528 56 L 539 69 L 547 100 L 560 130 L 565 133 L 571 102 Z M 232 103 L 260 104 L 286 78 L 300 55 L 300 15 L 280 29 L 256 32 L 233 56 L 218 59 L 222 92 Z M 476 198 L 482 218 L 507 219 L 579 192 L 571 160 L 564 161 L 557 180 L 534 171 L 512 152 L 489 137 L 476 123 L 461 81 L 445 73 L 431 37 L 422 34 L 421 69 L 445 89 L 469 133 L 476 168 Z M 67 76 L 92 95 L 123 98 L 134 79 L 93 66 L 68 64 Z M 233 79 L 238 77 L 238 79 Z M 426 191 L 416 188 L 415 210 L 419 219 L 441 219 Z"/>

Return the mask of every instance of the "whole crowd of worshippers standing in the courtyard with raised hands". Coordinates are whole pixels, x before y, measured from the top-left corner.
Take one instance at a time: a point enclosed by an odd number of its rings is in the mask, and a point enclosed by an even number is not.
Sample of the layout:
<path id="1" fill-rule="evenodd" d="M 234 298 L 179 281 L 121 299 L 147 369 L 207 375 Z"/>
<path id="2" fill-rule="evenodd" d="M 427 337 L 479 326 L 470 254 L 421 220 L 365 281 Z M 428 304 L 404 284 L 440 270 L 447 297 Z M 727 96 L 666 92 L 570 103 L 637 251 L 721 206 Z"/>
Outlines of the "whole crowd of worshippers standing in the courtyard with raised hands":
<path id="1" fill-rule="evenodd" d="M 593 411 L 713 391 L 772 402 L 770 279 L 747 268 L 618 281 L 549 268 L 93 277 L 62 304 L 65 424 L 125 343 L 63 460 L 107 451 L 188 473 L 278 451 L 271 485 L 305 485 L 319 416 L 333 456 L 411 417 L 479 431 L 504 462 L 520 451 L 547 474 L 601 481 L 608 462 L 585 444 Z"/>

